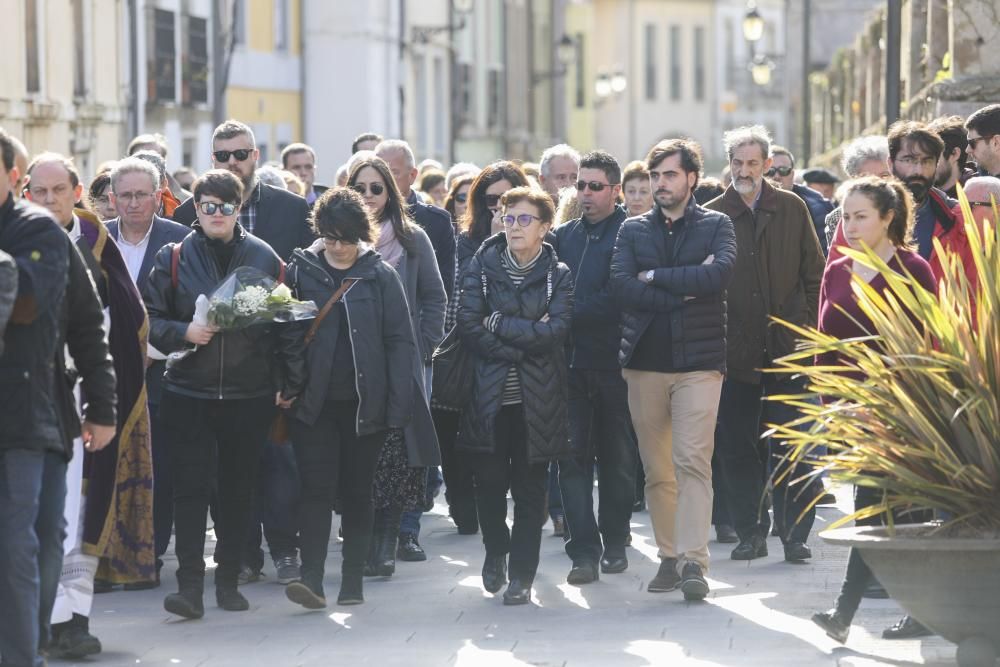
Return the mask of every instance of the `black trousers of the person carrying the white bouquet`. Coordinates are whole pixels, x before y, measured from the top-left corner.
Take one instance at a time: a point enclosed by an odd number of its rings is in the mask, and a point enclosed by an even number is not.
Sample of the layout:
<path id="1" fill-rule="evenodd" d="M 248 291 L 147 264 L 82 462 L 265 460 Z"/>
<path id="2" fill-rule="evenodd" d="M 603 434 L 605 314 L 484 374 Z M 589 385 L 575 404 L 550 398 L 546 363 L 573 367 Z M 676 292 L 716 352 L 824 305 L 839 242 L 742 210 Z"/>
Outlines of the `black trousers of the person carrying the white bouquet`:
<path id="1" fill-rule="evenodd" d="M 202 589 L 205 524 L 216 491 L 216 586 L 235 587 L 246 543 L 260 452 L 274 398 L 215 400 L 163 393 L 163 420 L 174 482 L 177 583 Z"/>

